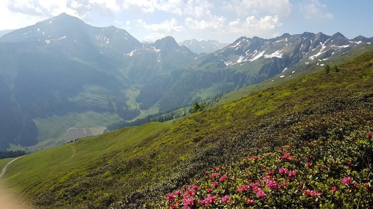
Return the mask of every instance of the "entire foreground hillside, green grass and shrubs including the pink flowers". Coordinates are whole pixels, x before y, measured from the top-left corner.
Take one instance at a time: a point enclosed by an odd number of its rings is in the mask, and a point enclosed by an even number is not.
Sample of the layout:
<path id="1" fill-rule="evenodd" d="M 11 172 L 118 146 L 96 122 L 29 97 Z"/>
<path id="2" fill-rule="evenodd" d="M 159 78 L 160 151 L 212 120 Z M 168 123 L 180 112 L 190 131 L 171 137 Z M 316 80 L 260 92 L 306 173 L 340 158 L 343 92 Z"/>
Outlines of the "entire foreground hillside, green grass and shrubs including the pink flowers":
<path id="1" fill-rule="evenodd" d="M 172 125 L 151 122 L 34 152 L 14 161 L 2 183 L 38 208 L 169 208 L 188 197 L 199 206 L 209 193 L 216 204 L 204 208 L 370 208 L 373 51 L 337 67 Z M 172 195 L 179 189 L 182 196 Z"/>

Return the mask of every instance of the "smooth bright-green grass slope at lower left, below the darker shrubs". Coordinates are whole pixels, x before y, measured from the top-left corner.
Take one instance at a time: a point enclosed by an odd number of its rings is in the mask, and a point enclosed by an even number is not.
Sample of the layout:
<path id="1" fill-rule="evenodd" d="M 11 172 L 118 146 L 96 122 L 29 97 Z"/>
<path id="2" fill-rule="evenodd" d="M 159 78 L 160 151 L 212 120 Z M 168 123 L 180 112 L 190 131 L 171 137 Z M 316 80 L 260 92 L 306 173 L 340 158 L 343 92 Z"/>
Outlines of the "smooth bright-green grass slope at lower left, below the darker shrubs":
<path id="1" fill-rule="evenodd" d="M 34 152 L 12 164 L 4 175 L 5 183 L 15 192 L 38 194 L 110 160 L 125 157 L 135 144 L 166 127 L 147 123 Z"/>

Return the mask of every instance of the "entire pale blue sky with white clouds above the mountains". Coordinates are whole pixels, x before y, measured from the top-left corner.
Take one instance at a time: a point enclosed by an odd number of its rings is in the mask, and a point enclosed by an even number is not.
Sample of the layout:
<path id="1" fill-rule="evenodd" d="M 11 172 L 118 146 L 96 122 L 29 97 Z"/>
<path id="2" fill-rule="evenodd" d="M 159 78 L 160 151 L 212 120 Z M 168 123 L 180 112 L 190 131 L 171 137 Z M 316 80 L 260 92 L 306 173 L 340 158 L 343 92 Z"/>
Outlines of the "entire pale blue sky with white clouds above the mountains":
<path id="1" fill-rule="evenodd" d="M 98 27 L 114 25 L 139 41 L 173 36 L 232 43 L 241 36 L 341 32 L 373 36 L 373 0 L 0 0 L 0 30 L 67 13 Z"/>

